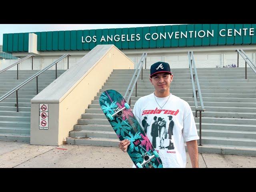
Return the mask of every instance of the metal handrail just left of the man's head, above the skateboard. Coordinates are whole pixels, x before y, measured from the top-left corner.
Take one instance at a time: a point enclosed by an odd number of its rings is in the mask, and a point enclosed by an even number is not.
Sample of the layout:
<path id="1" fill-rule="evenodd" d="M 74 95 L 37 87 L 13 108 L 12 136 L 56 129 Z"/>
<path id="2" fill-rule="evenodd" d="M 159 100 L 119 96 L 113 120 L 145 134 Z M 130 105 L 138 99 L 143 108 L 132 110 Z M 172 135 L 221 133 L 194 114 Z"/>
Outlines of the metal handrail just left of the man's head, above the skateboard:
<path id="1" fill-rule="evenodd" d="M 135 72 L 134 72 L 134 74 L 133 74 L 133 76 L 132 76 L 132 79 L 131 79 L 131 81 L 130 81 L 130 84 L 128 85 L 127 90 L 126 90 L 126 92 L 125 92 L 125 94 L 124 94 L 124 98 L 126 98 L 128 92 L 130 92 L 128 98 L 126 99 L 126 101 L 129 100 L 129 104 L 130 104 L 130 105 L 131 105 L 131 100 L 130 100 L 130 98 L 131 98 L 131 96 L 132 96 L 132 92 L 133 92 L 133 90 L 134 90 L 135 84 L 136 84 L 136 94 L 135 94 L 135 96 L 137 96 L 137 80 L 138 80 L 138 78 L 139 78 L 139 74 L 140 74 L 140 72 L 141 72 L 141 70 L 142 70 L 142 67 L 143 67 L 143 64 L 144 64 L 144 62 L 145 62 L 145 59 L 146 59 L 147 55 L 148 55 L 148 53 L 143 53 L 143 54 L 142 54 L 142 56 L 141 56 L 141 58 L 140 58 L 140 61 L 138 62 L 138 67 L 136 68 L 136 70 L 135 70 Z M 135 80 L 134 80 L 134 78 L 135 78 Z M 142 79 L 142 74 L 141 74 L 141 79 Z M 132 82 L 133 82 L 133 85 L 132 85 Z M 132 85 L 132 88 L 130 89 L 130 86 L 131 86 L 131 85 Z"/>

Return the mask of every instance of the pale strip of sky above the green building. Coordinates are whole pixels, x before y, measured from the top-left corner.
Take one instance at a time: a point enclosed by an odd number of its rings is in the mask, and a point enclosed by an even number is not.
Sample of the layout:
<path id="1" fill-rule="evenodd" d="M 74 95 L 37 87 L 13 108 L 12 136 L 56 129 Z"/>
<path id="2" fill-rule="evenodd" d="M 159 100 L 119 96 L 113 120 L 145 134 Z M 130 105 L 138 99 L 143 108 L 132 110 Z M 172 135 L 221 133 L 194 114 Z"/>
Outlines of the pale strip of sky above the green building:
<path id="1" fill-rule="evenodd" d="M 5 33 L 130 28 L 163 25 L 172 24 L 0 24 L 0 45 L 3 44 L 3 34 Z"/>

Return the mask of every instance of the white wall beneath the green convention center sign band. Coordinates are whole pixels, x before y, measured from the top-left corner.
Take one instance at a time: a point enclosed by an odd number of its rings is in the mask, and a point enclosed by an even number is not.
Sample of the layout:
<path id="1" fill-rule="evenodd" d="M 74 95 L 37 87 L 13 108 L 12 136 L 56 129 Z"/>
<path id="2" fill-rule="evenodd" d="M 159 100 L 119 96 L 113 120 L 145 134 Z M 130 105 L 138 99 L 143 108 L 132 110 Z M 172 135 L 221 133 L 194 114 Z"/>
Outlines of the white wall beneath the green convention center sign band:
<path id="1" fill-rule="evenodd" d="M 170 63 L 171 68 L 188 68 L 188 51 L 193 51 L 196 66 L 198 68 L 211 68 L 216 66 L 226 66 L 228 64 L 237 63 L 236 49 L 243 49 L 246 54 L 255 62 L 256 59 L 256 45 L 244 45 L 244 46 L 210 46 L 210 47 L 191 47 L 191 48 L 158 48 L 158 49 L 134 49 L 134 50 L 122 50 L 122 52 L 128 56 L 135 64 L 135 67 L 140 60 L 142 53 L 148 52 L 146 68 L 157 61 L 164 61 Z M 76 63 L 77 59 L 82 58 L 88 51 L 70 51 L 70 52 L 40 52 L 40 56 L 34 57 L 34 60 L 40 59 L 42 66 L 49 65 L 53 58 L 58 58 L 63 54 L 70 54 L 70 65 Z M 21 56 L 24 53 L 14 53 L 14 56 Z M 24 54 L 26 55 L 26 54 Z M 24 56 L 21 56 L 24 57 Z M 28 61 L 29 62 L 29 61 Z M 244 67 L 244 60 L 239 58 L 239 66 Z M 63 63 L 63 64 L 62 64 Z M 58 69 L 67 68 L 67 60 L 63 60 L 58 66 Z M 22 65 L 22 69 L 25 69 L 25 64 Z M 39 68 L 40 68 L 39 67 Z M 27 68 L 31 68 L 31 64 L 28 64 Z"/>

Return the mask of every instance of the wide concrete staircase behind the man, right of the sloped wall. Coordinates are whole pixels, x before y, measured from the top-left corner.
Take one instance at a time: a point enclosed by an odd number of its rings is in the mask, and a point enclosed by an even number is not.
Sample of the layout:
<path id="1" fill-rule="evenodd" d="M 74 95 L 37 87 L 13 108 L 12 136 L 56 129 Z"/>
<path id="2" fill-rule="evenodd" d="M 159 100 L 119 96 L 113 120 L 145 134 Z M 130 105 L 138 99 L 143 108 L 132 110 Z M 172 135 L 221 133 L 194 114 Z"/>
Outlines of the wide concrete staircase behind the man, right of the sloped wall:
<path id="1" fill-rule="evenodd" d="M 244 68 L 197 70 L 206 109 L 202 112 L 202 146 L 199 146 L 199 152 L 256 156 L 256 74 L 249 69 L 248 79 L 244 79 Z M 186 100 L 195 115 L 189 69 L 173 69 L 172 72 L 172 94 Z M 112 72 L 70 132 L 68 144 L 118 145 L 119 140 L 100 109 L 98 100 L 100 94 L 108 89 L 115 89 L 124 95 L 133 73 L 134 70 Z M 143 80 L 141 76 L 138 80 L 138 97 L 135 97 L 134 91 L 131 108 L 138 98 L 154 92 L 149 74 L 149 69 L 143 70 Z M 199 118 L 194 119 L 199 135 Z"/>

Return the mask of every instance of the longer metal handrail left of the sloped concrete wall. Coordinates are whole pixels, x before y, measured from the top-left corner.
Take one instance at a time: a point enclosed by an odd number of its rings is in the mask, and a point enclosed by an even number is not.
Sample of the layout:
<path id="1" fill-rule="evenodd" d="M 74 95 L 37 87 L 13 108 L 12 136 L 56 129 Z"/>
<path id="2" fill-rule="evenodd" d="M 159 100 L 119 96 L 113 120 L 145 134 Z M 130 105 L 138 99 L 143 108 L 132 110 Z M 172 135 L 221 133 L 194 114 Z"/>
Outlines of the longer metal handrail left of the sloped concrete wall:
<path id="1" fill-rule="evenodd" d="M 56 61 L 54 61 L 52 64 L 48 65 L 46 68 L 40 70 L 39 72 L 37 72 L 36 74 L 34 74 L 33 76 L 31 76 L 30 78 L 28 78 L 27 80 L 25 80 L 24 82 L 22 82 L 21 84 L 19 84 L 18 86 L 16 86 L 15 88 L 13 88 L 12 90 L 10 90 L 9 92 L 7 92 L 6 94 L 4 94 L 2 97 L 0 97 L 0 102 L 2 100 L 4 100 L 5 98 L 7 98 L 8 96 L 10 96 L 11 94 L 13 94 L 16 91 L 16 106 L 17 106 L 17 112 L 19 112 L 18 109 L 18 90 L 23 87 L 24 85 L 26 85 L 28 82 L 30 82 L 31 80 L 33 80 L 34 78 L 36 78 L 36 94 L 38 94 L 38 76 L 40 74 L 42 74 L 43 72 L 45 72 L 46 70 L 48 70 L 49 68 L 51 68 L 54 64 L 56 64 L 56 74 L 57 74 L 57 63 L 60 62 L 60 60 L 64 59 L 66 56 L 69 56 L 68 54 L 65 54 L 63 56 L 61 56 L 60 58 L 58 58 Z M 56 76 L 57 78 L 57 76 Z"/>

